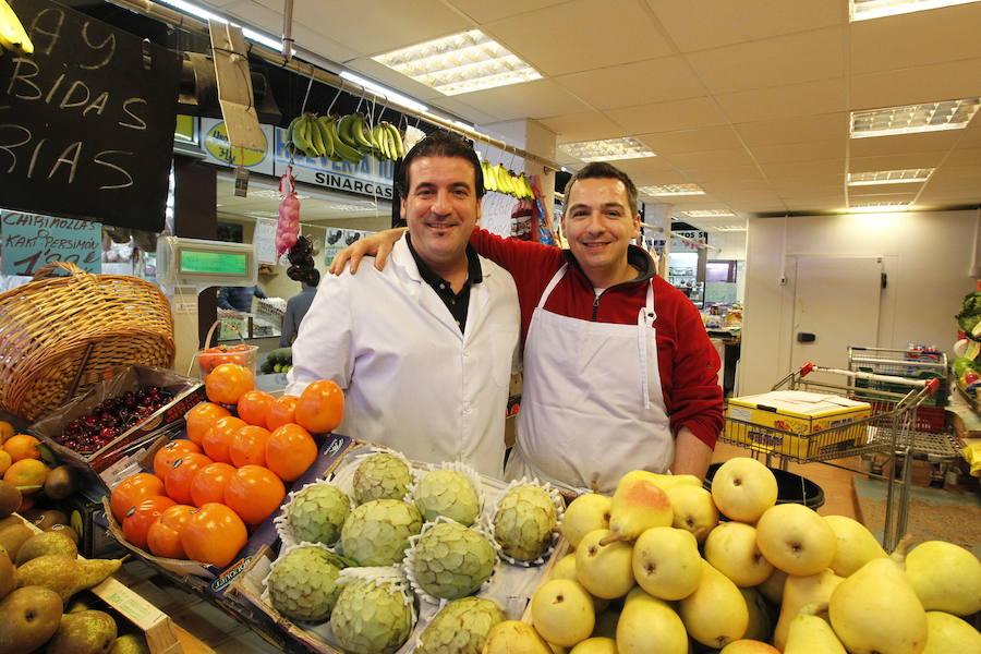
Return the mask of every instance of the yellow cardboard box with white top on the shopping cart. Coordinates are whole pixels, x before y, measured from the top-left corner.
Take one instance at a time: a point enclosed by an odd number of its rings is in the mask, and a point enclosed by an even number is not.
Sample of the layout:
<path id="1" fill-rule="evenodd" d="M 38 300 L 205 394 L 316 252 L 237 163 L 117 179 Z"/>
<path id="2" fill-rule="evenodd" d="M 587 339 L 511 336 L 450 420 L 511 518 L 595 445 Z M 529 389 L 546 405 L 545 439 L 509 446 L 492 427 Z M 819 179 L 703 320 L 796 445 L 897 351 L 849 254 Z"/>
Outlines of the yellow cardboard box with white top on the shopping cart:
<path id="1" fill-rule="evenodd" d="M 752 449 L 800 459 L 833 456 L 868 439 L 868 402 L 802 390 L 731 398 L 725 437 Z"/>

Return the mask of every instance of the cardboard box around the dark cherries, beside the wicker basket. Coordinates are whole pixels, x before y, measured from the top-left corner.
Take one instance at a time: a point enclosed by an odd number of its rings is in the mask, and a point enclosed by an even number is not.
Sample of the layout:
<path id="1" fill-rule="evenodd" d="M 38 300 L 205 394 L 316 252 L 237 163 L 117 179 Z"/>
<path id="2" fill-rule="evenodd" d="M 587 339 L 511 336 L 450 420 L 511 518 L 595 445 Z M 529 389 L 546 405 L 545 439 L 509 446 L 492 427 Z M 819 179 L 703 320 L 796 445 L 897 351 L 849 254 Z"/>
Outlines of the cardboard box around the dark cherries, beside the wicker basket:
<path id="1" fill-rule="evenodd" d="M 61 437 L 65 425 L 88 415 L 104 400 L 147 386 L 158 386 L 173 397 L 164 407 L 119 434 L 111 443 L 89 453 L 81 453 L 57 443 L 56 439 Z M 205 399 L 204 385 L 198 379 L 173 371 L 134 365 L 59 407 L 31 425 L 28 431 L 50 447 L 63 463 L 92 471 L 109 487 L 114 485 L 119 468 L 138 460 L 146 446 L 161 433 L 180 429 L 184 424 L 184 414 Z"/>

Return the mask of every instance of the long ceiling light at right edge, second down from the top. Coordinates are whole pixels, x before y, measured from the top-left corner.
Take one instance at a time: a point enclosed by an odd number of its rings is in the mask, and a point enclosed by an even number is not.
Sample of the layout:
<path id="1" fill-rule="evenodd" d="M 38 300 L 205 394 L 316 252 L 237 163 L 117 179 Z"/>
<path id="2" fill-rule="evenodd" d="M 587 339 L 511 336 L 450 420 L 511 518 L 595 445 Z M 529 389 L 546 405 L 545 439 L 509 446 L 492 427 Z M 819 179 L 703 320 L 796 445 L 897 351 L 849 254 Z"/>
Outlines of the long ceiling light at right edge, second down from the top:
<path id="1" fill-rule="evenodd" d="M 867 138 L 940 130 L 962 130 L 978 111 L 979 105 L 981 105 L 981 98 L 965 98 L 871 111 L 852 111 L 851 137 Z"/>

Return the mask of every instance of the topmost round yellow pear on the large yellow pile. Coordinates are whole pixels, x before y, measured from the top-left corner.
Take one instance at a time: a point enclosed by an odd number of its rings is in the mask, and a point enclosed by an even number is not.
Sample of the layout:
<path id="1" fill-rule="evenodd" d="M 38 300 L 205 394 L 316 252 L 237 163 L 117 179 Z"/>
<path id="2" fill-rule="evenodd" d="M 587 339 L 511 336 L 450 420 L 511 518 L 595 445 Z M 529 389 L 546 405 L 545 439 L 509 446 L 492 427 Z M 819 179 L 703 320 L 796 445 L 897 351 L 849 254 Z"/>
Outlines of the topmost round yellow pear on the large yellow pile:
<path id="1" fill-rule="evenodd" d="M 715 471 L 712 498 L 727 518 L 752 523 L 776 504 L 776 477 L 755 459 L 736 457 Z"/>

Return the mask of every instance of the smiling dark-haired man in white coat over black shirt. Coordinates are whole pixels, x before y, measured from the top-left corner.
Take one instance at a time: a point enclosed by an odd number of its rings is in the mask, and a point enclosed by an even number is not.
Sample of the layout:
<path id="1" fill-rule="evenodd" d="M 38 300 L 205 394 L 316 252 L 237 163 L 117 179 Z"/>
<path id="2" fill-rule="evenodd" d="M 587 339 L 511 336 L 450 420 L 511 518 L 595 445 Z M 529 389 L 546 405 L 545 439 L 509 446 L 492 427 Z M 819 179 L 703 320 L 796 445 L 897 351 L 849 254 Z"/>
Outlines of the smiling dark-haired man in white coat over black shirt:
<path id="1" fill-rule="evenodd" d="M 332 379 L 346 396 L 338 434 L 501 477 L 520 323 L 511 275 L 468 243 L 484 194 L 480 159 L 437 132 L 400 170 L 408 238 L 385 270 L 365 266 L 320 283 L 286 391 Z"/>

